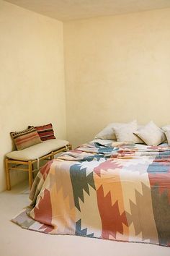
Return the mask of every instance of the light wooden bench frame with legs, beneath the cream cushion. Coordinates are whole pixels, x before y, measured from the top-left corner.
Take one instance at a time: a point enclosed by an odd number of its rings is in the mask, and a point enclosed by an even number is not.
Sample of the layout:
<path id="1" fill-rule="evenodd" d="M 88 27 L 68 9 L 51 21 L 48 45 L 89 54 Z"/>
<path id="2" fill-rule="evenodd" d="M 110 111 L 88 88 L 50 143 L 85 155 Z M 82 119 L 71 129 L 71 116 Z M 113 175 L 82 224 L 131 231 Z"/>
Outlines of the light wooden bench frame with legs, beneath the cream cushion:
<path id="1" fill-rule="evenodd" d="M 20 160 L 14 160 L 12 158 L 5 158 L 5 170 L 6 170 L 6 186 L 7 190 L 11 190 L 11 180 L 10 180 L 10 170 L 19 170 L 19 171 L 28 171 L 28 177 L 29 177 L 29 187 L 31 189 L 32 183 L 33 183 L 33 172 L 37 171 L 37 168 L 33 168 L 33 163 L 37 164 L 37 161 L 41 160 L 52 160 L 54 158 L 54 155 L 64 152 L 67 150 L 71 150 L 71 145 L 66 145 L 62 148 L 59 148 L 58 150 L 53 150 L 50 153 L 46 155 L 42 155 L 42 157 L 30 161 L 20 161 Z M 26 168 L 20 168 L 20 165 L 26 166 Z"/>

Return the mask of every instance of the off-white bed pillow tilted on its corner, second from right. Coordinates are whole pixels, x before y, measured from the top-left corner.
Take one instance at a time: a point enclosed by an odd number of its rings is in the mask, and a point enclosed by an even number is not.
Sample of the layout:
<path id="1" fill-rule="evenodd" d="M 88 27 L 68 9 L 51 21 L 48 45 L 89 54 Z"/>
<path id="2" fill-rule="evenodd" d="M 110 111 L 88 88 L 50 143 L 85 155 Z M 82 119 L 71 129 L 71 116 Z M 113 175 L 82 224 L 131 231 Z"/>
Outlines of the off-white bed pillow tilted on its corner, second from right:
<path id="1" fill-rule="evenodd" d="M 146 126 L 141 129 L 138 129 L 137 132 L 134 132 L 135 135 L 138 135 L 141 140 L 143 140 L 147 145 L 157 146 L 166 140 L 164 132 L 161 128 L 157 127 L 153 121 L 150 121 Z"/>

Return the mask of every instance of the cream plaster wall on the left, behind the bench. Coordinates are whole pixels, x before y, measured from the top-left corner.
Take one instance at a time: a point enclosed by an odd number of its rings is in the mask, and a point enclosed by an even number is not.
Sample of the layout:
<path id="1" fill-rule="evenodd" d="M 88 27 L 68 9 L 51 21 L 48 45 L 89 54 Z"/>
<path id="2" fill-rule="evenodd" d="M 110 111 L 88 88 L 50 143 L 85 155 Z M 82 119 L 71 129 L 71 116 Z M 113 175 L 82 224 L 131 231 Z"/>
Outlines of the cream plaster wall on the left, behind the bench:
<path id="1" fill-rule="evenodd" d="M 0 1 L 0 191 L 9 132 L 53 123 L 66 139 L 63 23 Z M 25 178 L 12 172 L 12 184 Z"/>

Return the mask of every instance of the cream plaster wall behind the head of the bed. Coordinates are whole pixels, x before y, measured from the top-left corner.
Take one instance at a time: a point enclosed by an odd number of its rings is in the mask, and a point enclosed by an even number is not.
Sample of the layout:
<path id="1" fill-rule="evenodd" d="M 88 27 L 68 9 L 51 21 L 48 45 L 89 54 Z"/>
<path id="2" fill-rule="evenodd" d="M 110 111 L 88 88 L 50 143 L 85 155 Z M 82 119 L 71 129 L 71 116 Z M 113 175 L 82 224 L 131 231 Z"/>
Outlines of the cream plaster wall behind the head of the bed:
<path id="1" fill-rule="evenodd" d="M 64 23 L 68 140 L 106 124 L 170 123 L 170 9 Z"/>

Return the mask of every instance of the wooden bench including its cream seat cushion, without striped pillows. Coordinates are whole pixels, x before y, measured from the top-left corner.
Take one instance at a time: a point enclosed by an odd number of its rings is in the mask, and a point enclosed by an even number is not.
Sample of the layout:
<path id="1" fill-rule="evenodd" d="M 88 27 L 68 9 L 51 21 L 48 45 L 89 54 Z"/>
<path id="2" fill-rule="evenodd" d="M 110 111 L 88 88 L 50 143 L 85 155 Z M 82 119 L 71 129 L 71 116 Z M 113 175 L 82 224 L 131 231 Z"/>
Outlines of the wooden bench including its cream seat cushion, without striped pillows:
<path id="1" fill-rule="evenodd" d="M 5 169 L 7 189 L 11 190 L 10 170 L 28 171 L 30 189 L 32 187 L 32 173 L 40 168 L 40 161 L 51 160 L 54 155 L 71 150 L 71 145 L 66 140 L 46 140 L 32 145 L 23 150 L 15 150 L 6 153 Z M 34 164 L 36 168 L 34 168 Z"/>

